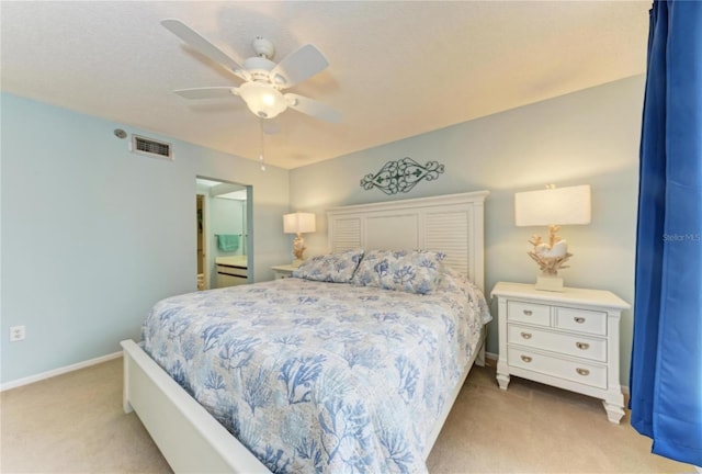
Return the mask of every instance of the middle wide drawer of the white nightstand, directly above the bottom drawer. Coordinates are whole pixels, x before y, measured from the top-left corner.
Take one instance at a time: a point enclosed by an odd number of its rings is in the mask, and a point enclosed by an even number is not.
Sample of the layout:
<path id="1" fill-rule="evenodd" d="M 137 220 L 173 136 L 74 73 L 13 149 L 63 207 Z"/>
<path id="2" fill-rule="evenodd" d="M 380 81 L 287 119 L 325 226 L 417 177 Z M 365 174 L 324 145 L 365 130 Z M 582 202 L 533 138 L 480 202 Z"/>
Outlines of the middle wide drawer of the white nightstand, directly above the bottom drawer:
<path id="1" fill-rule="evenodd" d="M 507 342 L 607 362 L 607 340 L 510 325 Z"/>

